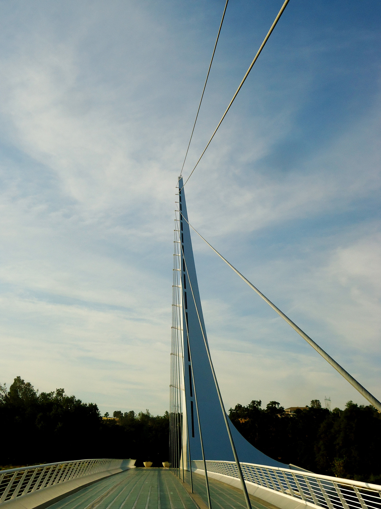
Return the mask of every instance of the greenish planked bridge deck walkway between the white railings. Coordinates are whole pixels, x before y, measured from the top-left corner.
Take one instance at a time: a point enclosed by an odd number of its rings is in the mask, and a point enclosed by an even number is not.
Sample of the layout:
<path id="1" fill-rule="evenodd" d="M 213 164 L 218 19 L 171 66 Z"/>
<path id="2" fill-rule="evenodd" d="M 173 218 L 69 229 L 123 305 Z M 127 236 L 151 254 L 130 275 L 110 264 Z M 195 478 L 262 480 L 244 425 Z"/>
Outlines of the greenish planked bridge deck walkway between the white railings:
<path id="1" fill-rule="evenodd" d="M 189 473 L 187 472 L 187 482 Z M 51 509 L 205 509 L 205 478 L 193 475 L 195 500 L 182 482 L 164 468 L 135 468 L 100 480 L 51 505 Z M 243 494 L 215 479 L 209 480 L 213 509 L 246 508 Z M 200 498 L 201 497 L 201 498 Z M 253 509 L 274 509 L 250 495 Z M 204 502 L 204 503 L 203 503 Z"/>

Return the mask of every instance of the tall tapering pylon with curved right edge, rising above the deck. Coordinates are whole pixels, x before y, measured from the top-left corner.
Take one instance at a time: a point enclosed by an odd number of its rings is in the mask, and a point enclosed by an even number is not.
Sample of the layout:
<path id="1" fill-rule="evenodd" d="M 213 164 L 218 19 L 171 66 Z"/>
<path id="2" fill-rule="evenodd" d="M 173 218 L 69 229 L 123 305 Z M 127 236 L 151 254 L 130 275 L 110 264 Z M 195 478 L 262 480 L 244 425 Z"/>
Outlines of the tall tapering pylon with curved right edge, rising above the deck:
<path id="1" fill-rule="evenodd" d="M 174 302 L 172 306 L 173 315 L 177 315 L 177 317 L 173 320 L 173 355 L 171 356 L 172 364 L 177 363 L 177 367 L 173 365 L 171 370 L 175 378 L 177 377 L 177 381 L 171 382 L 171 414 L 176 411 L 182 413 L 182 423 L 178 422 L 177 424 L 178 427 L 182 426 L 181 437 L 177 430 L 173 433 L 172 440 L 178 433 L 181 445 L 179 443 L 177 447 L 174 447 L 178 449 L 179 453 L 178 467 L 189 470 L 189 451 L 191 460 L 201 460 L 203 457 L 201 443 L 204 446 L 206 460 L 234 461 L 234 456 L 205 345 L 207 336 L 192 240 L 187 222 L 185 193 L 182 186 L 183 182 L 180 178 L 178 181 L 178 203 L 176 204 L 178 210 L 175 220 Z M 178 391 L 177 395 L 176 391 Z M 175 408 L 176 404 L 177 408 Z M 197 408 L 200 421 L 197 417 Z M 242 437 L 229 420 L 228 422 L 240 462 L 290 468 L 289 465 L 261 453 Z M 173 453 L 174 450 L 172 455 Z M 172 458 L 172 463 L 176 463 L 175 458 Z"/>

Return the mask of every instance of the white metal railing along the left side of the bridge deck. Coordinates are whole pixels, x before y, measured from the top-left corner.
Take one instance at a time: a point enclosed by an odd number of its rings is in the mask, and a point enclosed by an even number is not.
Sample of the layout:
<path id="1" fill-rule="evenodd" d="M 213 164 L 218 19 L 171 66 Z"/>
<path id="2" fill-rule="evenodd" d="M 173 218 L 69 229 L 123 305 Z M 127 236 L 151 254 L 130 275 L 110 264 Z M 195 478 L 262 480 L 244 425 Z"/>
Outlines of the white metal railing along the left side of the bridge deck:
<path id="1" fill-rule="evenodd" d="M 0 471 L 0 504 L 68 480 L 118 468 L 121 460 L 78 460 Z"/>

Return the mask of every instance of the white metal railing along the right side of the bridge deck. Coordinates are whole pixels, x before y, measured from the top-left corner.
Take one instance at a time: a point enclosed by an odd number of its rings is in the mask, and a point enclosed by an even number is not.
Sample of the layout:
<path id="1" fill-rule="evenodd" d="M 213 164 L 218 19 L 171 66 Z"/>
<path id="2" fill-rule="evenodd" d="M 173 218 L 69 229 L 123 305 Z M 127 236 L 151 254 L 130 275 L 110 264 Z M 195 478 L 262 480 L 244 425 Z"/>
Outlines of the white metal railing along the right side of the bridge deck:
<path id="1" fill-rule="evenodd" d="M 193 461 L 204 470 L 203 461 Z M 238 478 L 232 461 L 207 461 L 207 472 Z M 381 486 L 328 475 L 241 463 L 245 480 L 326 509 L 381 509 Z"/>

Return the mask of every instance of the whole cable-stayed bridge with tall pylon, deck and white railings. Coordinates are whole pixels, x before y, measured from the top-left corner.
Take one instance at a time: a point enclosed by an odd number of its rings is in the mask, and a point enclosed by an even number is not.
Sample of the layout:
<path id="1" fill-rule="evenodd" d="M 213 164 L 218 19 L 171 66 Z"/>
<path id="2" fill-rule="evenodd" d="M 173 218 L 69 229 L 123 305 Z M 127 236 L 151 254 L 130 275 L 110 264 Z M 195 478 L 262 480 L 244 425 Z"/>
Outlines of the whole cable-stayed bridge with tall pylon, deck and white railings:
<path id="1" fill-rule="evenodd" d="M 130 459 L 86 459 L 4 470 L 0 472 L 0 506 L 4 509 L 302 509 L 306 506 L 381 509 L 381 486 L 315 474 L 296 465 L 280 463 L 253 447 L 230 422 L 207 342 L 182 178 L 178 180 L 176 197 L 170 468 L 135 468 L 135 460 Z M 270 305 L 283 315 L 276 306 Z M 290 325 L 304 337 L 304 332 L 293 322 Z M 320 347 L 308 336 L 304 338 L 319 351 Z M 381 404 L 372 394 L 326 352 L 319 353 L 381 411 Z"/>

